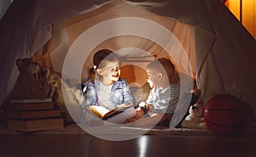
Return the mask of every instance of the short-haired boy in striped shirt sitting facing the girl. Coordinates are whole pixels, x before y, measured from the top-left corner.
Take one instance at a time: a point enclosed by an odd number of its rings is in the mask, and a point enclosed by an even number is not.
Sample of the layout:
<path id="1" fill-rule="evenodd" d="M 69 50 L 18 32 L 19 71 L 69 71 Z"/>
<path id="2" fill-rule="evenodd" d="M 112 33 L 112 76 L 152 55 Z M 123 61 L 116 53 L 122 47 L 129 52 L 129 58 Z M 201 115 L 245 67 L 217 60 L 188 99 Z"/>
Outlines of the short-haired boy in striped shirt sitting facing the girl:
<path id="1" fill-rule="evenodd" d="M 137 108 L 136 117 L 126 122 L 134 122 L 134 126 L 169 126 L 180 93 L 179 85 L 170 83 L 175 67 L 170 59 L 155 59 L 148 64 L 147 73 L 152 88 L 148 99 Z"/>

